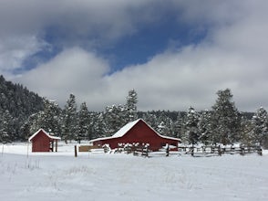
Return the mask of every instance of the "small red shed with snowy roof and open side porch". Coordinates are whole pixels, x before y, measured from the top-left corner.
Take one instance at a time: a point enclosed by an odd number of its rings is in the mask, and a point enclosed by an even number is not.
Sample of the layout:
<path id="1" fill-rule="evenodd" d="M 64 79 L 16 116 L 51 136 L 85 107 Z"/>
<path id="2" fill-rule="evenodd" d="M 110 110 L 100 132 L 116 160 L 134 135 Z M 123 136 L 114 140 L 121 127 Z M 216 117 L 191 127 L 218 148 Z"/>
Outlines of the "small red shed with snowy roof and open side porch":
<path id="1" fill-rule="evenodd" d="M 32 152 L 57 152 L 57 141 L 59 137 L 55 137 L 45 132 L 43 129 L 39 129 L 30 138 L 29 142 L 32 143 Z"/>

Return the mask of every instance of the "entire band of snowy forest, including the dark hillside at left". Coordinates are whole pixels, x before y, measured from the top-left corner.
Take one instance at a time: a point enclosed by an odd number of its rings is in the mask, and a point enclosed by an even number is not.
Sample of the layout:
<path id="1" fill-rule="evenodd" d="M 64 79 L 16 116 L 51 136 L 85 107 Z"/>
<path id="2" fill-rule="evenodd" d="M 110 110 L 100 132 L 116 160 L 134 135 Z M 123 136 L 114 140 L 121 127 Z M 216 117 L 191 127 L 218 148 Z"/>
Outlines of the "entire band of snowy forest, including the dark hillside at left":
<path id="1" fill-rule="evenodd" d="M 268 147 L 268 118 L 263 107 L 254 113 L 241 112 L 232 101 L 230 89 L 219 90 L 211 110 L 138 111 L 138 94 L 129 90 L 123 105 L 89 111 L 86 102 L 77 105 L 70 94 L 63 109 L 21 85 L 0 77 L 0 142 L 25 141 L 39 128 L 65 141 L 110 136 L 128 122 L 142 118 L 157 132 L 180 138 L 182 143 L 260 144 Z M 20 90 L 19 90 L 20 89 Z"/>

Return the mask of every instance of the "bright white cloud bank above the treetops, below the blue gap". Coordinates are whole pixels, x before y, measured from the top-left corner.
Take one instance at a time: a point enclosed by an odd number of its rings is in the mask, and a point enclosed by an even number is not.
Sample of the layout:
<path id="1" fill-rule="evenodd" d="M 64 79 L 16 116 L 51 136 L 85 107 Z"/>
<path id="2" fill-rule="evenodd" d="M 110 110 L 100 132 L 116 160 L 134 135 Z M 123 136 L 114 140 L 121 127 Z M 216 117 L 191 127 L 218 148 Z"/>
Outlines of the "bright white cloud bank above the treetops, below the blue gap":
<path id="1" fill-rule="evenodd" d="M 251 62 L 253 63 L 253 61 Z M 188 47 L 167 51 L 148 63 L 107 75 L 108 63 L 80 48 L 67 49 L 23 76 L 26 86 L 61 104 L 74 92 L 91 110 L 124 103 L 128 90 L 139 94 L 139 110 L 199 110 L 211 108 L 216 91 L 231 88 L 240 110 L 265 106 L 262 66 L 251 68 L 240 54 L 221 48 Z M 39 76 L 41 75 L 41 76 Z M 260 79 L 256 79 L 260 77 Z M 263 78 L 261 78 L 263 77 Z M 253 79 L 251 79 L 253 78 Z"/>

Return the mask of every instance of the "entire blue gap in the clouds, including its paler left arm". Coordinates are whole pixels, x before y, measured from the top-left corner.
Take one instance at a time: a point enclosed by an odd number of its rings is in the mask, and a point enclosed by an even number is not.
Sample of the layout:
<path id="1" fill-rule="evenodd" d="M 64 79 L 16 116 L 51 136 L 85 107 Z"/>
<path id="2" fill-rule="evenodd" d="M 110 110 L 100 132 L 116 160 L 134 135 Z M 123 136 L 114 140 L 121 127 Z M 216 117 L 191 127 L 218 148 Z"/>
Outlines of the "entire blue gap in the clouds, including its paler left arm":
<path id="1" fill-rule="evenodd" d="M 36 67 L 38 61 L 46 62 L 68 46 L 79 46 L 89 51 L 94 51 L 107 58 L 111 66 L 110 73 L 124 69 L 130 65 L 143 64 L 148 62 L 149 58 L 164 52 L 167 48 L 183 48 L 191 44 L 198 44 L 203 37 L 206 37 L 206 28 L 198 30 L 195 26 L 178 22 L 173 13 L 166 13 L 157 23 L 138 27 L 137 30 L 123 36 L 115 41 L 99 42 L 101 36 L 93 36 L 98 41 L 93 47 L 87 44 L 92 39 L 90 33 L 88 36 L 79 37 L 67 34 L 65 29 L 58 26 L 49 26 L 44 29 L 42 40 L 46 41 L 49 48 L 42 48 L 35 54 L 24 60 L 22 66 L 26 69 Z M 73 37 L 79 38 L 72 43 Z M 86 43 L 84 43 L 86 41 Z"/>

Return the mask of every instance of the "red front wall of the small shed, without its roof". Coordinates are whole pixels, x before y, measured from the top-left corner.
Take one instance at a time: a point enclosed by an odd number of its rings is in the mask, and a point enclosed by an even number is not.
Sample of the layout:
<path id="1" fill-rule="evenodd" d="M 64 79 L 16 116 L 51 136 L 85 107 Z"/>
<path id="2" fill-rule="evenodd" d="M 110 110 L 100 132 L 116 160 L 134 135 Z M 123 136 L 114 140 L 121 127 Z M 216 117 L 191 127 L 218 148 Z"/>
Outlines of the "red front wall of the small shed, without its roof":
<path id="1" fill-rule="evenodd" d="M 32 139 L 32 152 L 49 152 L 49 146 L 49 138 L 42 131 Z"/>

